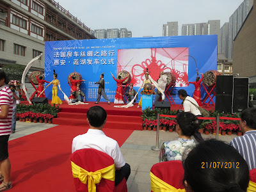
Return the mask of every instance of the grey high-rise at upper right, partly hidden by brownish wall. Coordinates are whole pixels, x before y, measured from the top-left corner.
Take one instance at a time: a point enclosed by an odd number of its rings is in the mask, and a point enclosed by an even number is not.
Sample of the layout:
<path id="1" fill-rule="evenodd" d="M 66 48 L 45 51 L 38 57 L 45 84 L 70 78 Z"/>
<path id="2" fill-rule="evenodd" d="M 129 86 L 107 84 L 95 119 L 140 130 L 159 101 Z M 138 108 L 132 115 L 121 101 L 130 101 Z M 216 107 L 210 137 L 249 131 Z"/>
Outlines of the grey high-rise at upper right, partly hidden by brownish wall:
<path id="1" fill-rule="evenodd" d="M 233 58 L 233 41 L 252 9 L 253 0 L 244 0 L 237 10 L 229 17 L 228 58 Z"/>

